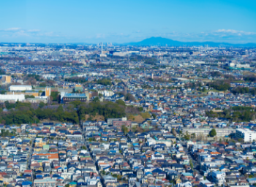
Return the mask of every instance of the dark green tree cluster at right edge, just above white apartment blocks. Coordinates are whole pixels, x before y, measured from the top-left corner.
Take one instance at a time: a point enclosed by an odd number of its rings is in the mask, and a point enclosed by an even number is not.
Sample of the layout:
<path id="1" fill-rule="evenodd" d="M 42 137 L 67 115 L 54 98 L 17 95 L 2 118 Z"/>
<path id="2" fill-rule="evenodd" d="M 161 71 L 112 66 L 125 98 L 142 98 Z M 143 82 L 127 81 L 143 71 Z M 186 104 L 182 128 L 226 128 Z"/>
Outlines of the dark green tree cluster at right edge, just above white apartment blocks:
<path id="1" fill-rule="evenodd" d="M 230 107 L 223 112 L 206 111 L 209 118 L 227 118 L 231 121 L 252 121 L 255 120 L 256 112 L 252 107 Z"/>

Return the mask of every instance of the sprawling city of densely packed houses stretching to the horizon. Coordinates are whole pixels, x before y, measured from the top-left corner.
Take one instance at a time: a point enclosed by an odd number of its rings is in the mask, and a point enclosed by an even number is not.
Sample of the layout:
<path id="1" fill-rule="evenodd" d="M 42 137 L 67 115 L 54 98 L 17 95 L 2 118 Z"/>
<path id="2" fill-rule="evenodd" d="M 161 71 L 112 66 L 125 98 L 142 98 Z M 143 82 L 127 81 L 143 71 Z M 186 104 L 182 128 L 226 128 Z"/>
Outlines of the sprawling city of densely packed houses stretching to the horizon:
<path id="1" fill-rule="evenodd" d="M 256 184 L 255 48 L 1 43 L 0 63 L 0 186 Z"/>

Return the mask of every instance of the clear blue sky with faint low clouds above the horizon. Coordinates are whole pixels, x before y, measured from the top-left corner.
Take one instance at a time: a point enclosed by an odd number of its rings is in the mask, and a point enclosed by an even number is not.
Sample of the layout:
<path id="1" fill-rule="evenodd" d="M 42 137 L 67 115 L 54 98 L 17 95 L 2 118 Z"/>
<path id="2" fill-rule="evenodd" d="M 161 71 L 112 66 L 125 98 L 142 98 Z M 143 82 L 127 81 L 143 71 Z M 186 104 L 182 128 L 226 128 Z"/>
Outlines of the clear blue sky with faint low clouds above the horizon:
<path id="1" fill-rule="evenodd" d="M 256 43 L 256 1 L 1 1 L 0 42 Z"/>

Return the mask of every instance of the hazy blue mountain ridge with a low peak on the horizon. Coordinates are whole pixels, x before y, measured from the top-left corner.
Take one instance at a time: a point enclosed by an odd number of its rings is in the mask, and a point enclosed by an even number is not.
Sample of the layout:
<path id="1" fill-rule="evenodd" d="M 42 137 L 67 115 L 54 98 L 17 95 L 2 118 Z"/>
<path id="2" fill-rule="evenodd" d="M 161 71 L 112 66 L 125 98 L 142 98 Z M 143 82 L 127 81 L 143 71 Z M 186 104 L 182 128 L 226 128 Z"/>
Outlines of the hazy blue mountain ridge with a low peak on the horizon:
<path id="1" fill-rule="evenodd" d="M 125 45 L 169 45 L 169 46 L 203 46 L 208 45 L 211 47 L 219 47 L 219 46 L 234 46 L 234 47 L 256 47 L 255 43 L 247 43 L 247 44 L 230 44 L 225 42 L 179 42 L 173 39 L 167 39 L 162 37 L 151 37 L 148 39 L 144 39 L 140 42 L 130 42 Z"/>

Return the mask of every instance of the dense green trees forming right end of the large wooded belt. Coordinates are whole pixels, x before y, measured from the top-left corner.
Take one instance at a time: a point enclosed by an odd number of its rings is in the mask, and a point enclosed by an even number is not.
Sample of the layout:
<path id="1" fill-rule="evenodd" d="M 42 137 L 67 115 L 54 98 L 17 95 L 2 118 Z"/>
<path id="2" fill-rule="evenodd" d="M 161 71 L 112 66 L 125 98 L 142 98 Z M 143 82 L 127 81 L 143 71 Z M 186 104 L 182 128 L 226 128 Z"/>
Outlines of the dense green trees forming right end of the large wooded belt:
<path id="1" fill-rule="evenodd" d="M 91 102 L 87 106 L 80 106 L 78 116 L 80 119 L 85 119 L 85 115 L 103 115 L 104 118 L 122 118 L 125 114 L 125 107 L 113 102 L 100 103 Z"/>

